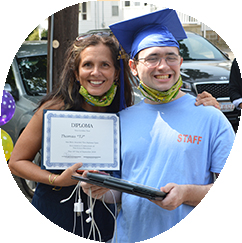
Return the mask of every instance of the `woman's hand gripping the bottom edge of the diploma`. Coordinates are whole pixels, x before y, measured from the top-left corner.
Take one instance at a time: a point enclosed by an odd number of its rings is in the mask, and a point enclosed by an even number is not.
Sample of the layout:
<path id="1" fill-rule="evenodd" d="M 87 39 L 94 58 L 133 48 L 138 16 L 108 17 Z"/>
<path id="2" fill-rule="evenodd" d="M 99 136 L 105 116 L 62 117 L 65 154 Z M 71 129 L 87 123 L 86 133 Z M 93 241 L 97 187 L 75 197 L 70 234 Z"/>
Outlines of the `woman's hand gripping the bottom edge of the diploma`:
<path id="1" fill-rule="evenodd" d="M 65 187 L 65 186 L 73 186 L 78 183 L 77 180 L 71 179 L 73 174 L 76 174 L 77 170 L 82 167 L 82 163 L 77 163 L 63 171 L 54 181 L 53 186 Z M 79 175 L 79 174 L 78 174 Z M 54 177 L 54 175 L 52 175 Z"/>

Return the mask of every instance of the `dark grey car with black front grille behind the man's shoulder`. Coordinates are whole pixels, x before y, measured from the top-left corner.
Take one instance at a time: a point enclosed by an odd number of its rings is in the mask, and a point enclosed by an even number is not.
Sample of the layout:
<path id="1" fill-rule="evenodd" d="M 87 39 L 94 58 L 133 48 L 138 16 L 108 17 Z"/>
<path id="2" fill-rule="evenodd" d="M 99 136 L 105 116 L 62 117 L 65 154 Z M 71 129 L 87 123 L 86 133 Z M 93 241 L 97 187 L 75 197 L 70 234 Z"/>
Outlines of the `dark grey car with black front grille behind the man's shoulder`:
<path id="1" fill-rule="evenodd" d="M 207 91 L 220 104 L 221 110 L 233 126 L 239 125 L 239 114 L 229 98 L 229 76 L 232 61 L 200 35 L 187 32 L 187 39 L 179 41 L 184 61 L 181 66 L 182 90 L 194 96 Z"/>

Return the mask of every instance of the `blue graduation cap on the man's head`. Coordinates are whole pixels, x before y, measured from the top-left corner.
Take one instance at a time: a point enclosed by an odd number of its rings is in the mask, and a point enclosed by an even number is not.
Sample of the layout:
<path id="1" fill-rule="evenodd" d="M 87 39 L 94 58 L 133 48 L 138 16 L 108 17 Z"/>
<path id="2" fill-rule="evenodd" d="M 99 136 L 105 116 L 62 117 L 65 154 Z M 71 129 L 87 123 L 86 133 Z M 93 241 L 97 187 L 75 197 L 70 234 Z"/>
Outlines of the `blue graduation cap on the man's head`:
<path id="1" fill-rule="evenodd" d="M 123 49 L 131 58 L 141 50 L 153 46 L 175 46 L 187 38 L 173 9 L 163 9 L 109 26 Z"/>

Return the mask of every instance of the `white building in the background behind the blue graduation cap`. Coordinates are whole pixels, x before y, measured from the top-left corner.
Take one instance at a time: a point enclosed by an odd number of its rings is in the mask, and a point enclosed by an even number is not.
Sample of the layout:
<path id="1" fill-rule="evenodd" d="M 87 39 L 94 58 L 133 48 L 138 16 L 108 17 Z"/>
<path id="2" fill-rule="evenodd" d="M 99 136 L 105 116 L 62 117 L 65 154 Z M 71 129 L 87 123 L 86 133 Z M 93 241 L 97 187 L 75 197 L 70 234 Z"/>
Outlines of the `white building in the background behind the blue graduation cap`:
<path id="1" fill-rule="evenodd" d="M 154 5 L 138 1 L 89 1 L 85 4 L 86 12 L 83 12 L 83 3 L 80 4 L 79 34 L 94 29 L 105 29 L 115 22 L 166 8 L 163 7 L 162 2 Z M 199 20 L 180 12 L 177 12 L 177 14 L 186 31 L 204 35 L 203 28 L 205 27 L 205 37 L 207 39 L 215 45 L 226 44 L 215 31 L 199 22 Z M 86 15 L 86 19 L 83 19 L 83 15 Z"/>

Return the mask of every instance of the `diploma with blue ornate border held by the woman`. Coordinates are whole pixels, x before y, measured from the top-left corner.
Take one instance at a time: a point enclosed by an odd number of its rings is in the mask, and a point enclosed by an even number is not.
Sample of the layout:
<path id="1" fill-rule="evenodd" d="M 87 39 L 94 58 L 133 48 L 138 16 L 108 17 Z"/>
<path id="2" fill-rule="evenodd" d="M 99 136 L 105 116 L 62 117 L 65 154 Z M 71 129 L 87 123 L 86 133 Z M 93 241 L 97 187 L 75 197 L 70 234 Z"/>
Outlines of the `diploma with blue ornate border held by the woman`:
<path id="1" fill-rule="evenodd" d="M 113 113 L 44 110 L 42 164 L 65 170 L 119 170 L 119 117 Z"/>

